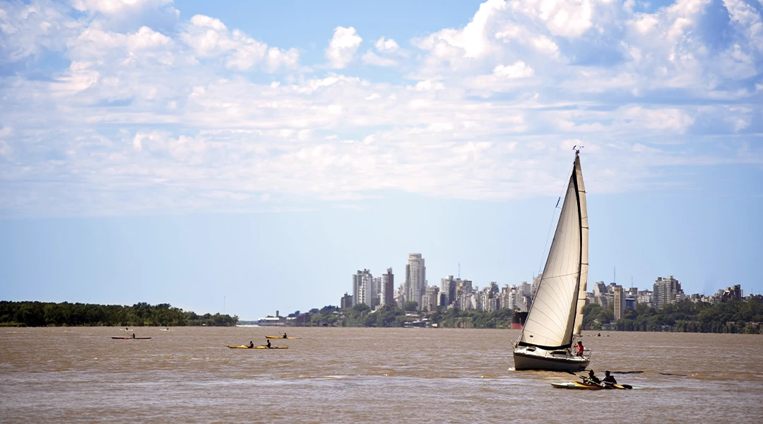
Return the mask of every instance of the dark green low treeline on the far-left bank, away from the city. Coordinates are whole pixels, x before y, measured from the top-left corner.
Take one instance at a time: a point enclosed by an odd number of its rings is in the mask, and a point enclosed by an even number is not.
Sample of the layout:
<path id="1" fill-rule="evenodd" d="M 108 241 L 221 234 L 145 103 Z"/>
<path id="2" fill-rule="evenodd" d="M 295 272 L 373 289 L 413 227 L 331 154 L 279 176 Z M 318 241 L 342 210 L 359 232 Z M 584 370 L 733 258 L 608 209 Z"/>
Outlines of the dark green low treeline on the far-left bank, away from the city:
<path id="1" fill-rule="evenodd" d="M 235 326 L 238 316 L 197 315 L 169 304 L 55 304 L 0 301 L 0 326 Z"/>

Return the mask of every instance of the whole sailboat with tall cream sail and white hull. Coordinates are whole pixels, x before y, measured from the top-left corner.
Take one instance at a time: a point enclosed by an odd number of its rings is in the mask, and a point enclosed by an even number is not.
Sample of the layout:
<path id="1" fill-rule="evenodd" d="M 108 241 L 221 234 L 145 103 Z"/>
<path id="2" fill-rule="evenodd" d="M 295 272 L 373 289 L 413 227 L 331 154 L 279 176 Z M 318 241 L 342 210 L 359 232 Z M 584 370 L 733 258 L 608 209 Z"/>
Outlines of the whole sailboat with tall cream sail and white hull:
<path id="1" fill-rule="evenodd" d="M 520 338 L 514 344 L 515 370 L 580 371 L 591 352 L 572 352 L 580 335 L 588 281 L 588 211 L 580 169 L 580 150 L 540 283 Z"/>

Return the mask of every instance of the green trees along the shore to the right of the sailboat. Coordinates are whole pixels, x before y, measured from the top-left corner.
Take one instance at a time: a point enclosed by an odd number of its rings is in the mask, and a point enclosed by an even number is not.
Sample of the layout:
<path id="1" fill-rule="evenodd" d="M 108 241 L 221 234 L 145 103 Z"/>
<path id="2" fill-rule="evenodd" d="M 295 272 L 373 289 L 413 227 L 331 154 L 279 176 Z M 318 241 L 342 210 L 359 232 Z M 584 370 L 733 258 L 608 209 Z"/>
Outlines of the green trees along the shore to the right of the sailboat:
<path id="1" fill-rule="evenodd" d="M 620 331 L 674 331 L 674 332 L 736 332 L 761 334 L 763 304 L 750 302 L 725 302 L 715 306 L 684 300 L 661 308 L 636 305 L 636 310 L 626 310 L 623 318 L 614 320 L 612 309 L 605 310 L 597 304 L 585 307 L 583 328 L 603 329 L 613 323 Z"/>

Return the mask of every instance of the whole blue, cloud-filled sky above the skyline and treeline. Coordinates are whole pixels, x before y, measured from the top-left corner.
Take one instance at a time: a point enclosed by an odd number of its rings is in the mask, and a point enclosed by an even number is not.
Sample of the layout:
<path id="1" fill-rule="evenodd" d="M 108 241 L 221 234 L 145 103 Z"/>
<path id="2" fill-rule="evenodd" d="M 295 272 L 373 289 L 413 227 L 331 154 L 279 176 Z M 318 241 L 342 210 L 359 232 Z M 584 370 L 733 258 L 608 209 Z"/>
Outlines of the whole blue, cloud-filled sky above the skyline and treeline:
<path id="1" fill-rule="evenodd" d="M 581 144 L 589 281 L 760 292 L 760 2 L 272 3 L 0 2 L 0 299 L 530 281 Z"/>

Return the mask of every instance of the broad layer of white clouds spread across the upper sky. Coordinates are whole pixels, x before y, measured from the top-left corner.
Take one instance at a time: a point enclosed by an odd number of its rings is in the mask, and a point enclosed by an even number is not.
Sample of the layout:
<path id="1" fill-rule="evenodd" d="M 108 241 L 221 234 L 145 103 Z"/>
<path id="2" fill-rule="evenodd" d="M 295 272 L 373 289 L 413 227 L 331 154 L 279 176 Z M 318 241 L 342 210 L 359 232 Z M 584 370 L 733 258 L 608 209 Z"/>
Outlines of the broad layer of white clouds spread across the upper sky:
<path id="1" fill-rule="evenodd" d="M 363 53 L 336 27 L 327 72 L 218 16 L 146 18 L 171 2 L 2 3 L 19 70 L 0 87 L 0 214 L 553 195 L 581 140 L 598 193 L 655 166 L 760 165 L 759 13 L 729 0 L 710 28 L 708 4 L 489 0 Z"/>

